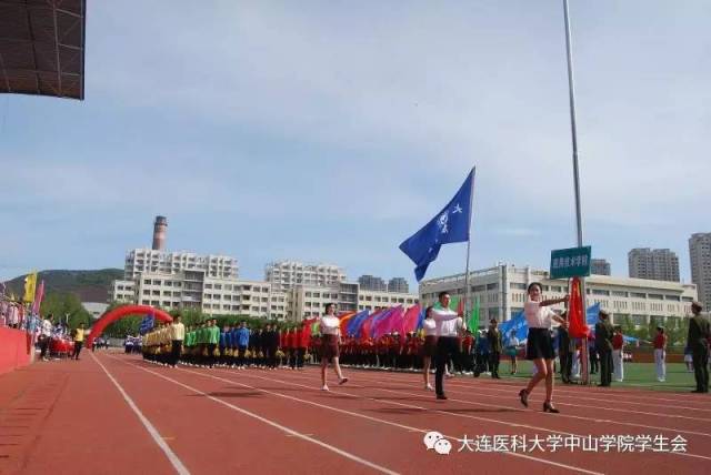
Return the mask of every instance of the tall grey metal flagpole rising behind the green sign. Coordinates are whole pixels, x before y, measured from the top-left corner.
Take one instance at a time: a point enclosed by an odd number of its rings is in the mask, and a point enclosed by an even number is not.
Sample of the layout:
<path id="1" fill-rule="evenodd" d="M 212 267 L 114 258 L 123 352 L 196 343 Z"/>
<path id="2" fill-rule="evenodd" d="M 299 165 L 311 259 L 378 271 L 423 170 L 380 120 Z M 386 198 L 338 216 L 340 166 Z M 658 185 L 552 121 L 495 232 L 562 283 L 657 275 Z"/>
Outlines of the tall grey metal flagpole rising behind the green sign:
<path id="1" fill-rule="evenodd" d="M 571 47 L 571 28 L 570 11 L 568 0 L 563 0 L 563 17 L 565 19 L 565 57 L 568 59 L 568 91 L 570 95 L 570 131 L 573 146 L 573 186 L 575 191 L 575 228 L 578 234 L 578 247 L 582 247 L 582 208 L 580 204 L 580 166 L 578 163 L 578 130 L 575 124 L 575 82 L 573 79 L 573 53 Z M 582 299 L 582 312 L 584 319 L 588 319 L 588 305 L 585 303 L 585 280 L 580 279 L 580 294 Z M 582 338 L 582 347 L 580 351 L 582 383 L 590 383 L 590 373 L 588 368 L 588 337 Z"/>

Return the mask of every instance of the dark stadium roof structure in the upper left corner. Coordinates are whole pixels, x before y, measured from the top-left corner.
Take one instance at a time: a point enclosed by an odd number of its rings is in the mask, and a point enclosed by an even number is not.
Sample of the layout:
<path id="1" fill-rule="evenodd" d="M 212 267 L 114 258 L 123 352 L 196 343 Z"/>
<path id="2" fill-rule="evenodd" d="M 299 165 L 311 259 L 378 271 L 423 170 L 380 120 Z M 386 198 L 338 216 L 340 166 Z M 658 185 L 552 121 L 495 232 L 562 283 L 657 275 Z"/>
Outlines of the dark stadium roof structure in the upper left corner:
<path id="1" fill-rule="evenodd" d="M 0 0 L 0 92 L 84 98 L 86 0 Z"/>

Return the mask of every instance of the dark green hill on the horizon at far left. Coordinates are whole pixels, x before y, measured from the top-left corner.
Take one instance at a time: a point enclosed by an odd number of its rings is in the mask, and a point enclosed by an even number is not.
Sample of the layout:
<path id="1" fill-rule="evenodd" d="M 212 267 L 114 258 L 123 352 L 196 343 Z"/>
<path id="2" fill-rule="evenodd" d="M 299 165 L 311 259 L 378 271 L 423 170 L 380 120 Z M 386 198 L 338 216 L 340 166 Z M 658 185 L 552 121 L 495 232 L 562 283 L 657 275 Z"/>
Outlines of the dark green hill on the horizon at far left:
<path id="1" fill-rule="evenodd" d="M 37 284 L 44 281 L 44 292 L 73 293 L 82 302 L 107 302 L 111 282 L 123 279 L 121 269 L 98 271 L 41 271 Z M 8 293 L 18 297 L 24 293 L 24 275 L 6 282 Z"/>

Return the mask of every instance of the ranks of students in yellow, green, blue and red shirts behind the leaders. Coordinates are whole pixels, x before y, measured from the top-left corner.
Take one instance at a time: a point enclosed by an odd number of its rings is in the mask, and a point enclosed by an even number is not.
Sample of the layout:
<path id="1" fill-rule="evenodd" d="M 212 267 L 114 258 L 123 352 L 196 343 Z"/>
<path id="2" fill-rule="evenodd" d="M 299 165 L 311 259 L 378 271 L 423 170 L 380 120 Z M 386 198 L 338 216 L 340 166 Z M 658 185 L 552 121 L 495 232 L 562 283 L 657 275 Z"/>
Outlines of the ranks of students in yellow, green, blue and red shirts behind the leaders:
<path id="1" fill-rule="evenodd" d="M 177 319 L 179 323 L 180 317 Z M 198 326 L 184 327 L 158 324 L 142 338 L 142 353 L 147 360 L 174 366 L 178 362 L 196 366 L 216 365 L 236 368 L 289 366 L 301 368 L 308 358 L 320 363 L 322 338 L 312 333 L 311 325 L 278 330 L 267 324 L 264 329 L 249 329 L 247 322 L 237 326 L 218 326 L 217 320 L 208 320 Z M 475 375 L 488 374 L 498 377 L 501 358 L 501 334 L 495 330 L 495 321 L 488 331 L 462 333 L 461 352 L 450 358 L 451 373 Z M 177 330 L 178 329 L 178 330 Z M 178 333 L 177 333 L 178 332 Z M 397 332 L 379 338 L 341 337 L 339 344 L 340 363 L 344 366 L 389 371 L 421 371 L 423 368 L 424 334 Z M 173 348 L 180 342 L 180 350 Z"/>

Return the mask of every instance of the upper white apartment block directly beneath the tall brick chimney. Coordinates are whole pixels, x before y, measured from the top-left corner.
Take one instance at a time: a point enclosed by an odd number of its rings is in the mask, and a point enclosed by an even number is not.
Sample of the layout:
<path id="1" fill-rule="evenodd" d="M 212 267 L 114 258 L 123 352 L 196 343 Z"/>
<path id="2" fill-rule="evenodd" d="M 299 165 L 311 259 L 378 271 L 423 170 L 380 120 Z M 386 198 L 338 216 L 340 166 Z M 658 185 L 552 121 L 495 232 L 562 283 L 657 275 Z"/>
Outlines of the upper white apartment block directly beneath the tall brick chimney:
<path id="1" fill-rule="evenodd" d="M 207 276 L 219 279 L 237 279 L 239 275 L 237 259 L 228 255 L 134 249 L 126 255 L 123 277 L 132 280 L 139 274 L 178 274 L 182 271 L 202 271 Z"/>

